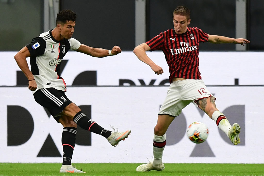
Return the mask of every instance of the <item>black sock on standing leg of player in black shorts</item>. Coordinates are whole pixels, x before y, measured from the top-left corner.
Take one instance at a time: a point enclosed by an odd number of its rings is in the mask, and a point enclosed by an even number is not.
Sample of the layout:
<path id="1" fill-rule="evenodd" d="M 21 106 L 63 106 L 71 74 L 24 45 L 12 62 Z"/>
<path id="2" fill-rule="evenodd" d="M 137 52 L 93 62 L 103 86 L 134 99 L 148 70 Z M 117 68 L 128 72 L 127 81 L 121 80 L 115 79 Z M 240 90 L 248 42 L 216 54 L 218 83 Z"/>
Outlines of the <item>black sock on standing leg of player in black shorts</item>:
<path id="1" fill-rule="evenodd" d="M 62 131 L 63 165 L 71 165 L 73 149 L 76 140 L 76 128 L 65 127 Z"/>

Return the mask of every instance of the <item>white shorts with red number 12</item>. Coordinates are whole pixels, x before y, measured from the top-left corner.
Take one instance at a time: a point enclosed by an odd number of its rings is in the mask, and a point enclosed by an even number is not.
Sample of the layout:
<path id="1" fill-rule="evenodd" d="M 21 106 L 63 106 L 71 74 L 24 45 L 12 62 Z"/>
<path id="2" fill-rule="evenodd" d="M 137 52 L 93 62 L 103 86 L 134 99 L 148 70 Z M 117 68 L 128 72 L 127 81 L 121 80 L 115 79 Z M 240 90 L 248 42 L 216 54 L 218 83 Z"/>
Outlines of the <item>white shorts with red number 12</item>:
<path id="1" fill-rule="evenodd" d="M 191 102 L 199 107 L 196 103 L 197 100 L 211 96 L 211 92 L 206 88 L 204 81 L 201 79 L 174 81 L 169 86 L 167 96 L 158 115 L 168 114 L 176 117 Z"/>

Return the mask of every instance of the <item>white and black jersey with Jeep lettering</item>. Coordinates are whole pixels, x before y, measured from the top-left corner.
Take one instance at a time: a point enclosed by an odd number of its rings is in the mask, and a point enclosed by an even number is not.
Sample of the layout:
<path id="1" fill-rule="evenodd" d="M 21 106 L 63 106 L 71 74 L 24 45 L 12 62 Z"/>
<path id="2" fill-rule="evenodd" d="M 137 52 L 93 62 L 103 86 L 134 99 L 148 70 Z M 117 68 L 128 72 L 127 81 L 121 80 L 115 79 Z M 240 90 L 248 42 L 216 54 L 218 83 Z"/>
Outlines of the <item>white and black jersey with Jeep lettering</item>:
<path id="1" fill-rule="evenodd" d="M 60 77 L 60 63 L 69 50 L 77 50 L 80 46 L 81 43 L 74 38 L 55 40 L 51 30 L 32 39 L 26 47 L 30 52 L 31 72 L 37 83 L 33 93 L 50 87 L 66 91 L 66 83 Z"/>

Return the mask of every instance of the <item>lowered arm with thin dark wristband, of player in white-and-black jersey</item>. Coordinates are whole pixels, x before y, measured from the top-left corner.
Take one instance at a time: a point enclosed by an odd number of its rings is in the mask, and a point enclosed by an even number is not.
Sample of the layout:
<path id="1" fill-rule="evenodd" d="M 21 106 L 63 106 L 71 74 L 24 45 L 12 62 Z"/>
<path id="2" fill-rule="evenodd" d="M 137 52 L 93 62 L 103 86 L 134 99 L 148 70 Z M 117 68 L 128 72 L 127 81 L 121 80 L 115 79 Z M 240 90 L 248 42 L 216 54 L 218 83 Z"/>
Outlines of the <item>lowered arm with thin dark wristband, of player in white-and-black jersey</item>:
<path id="1" fill-rule="evenodd" d="M 25 74 L 29 81 L 29 89 L 31 91 L 35 91 L 37 88 L 37 83 L 34 80 L 34 76 L 32 72 L 29 70 L 29 65 L 27 64 L 26 58 L 30 56 L 29 50 L 26 46 L 24 46 L 18 53 L 14 56 L 17 65 L 22 70 L 22 72 Z"/>

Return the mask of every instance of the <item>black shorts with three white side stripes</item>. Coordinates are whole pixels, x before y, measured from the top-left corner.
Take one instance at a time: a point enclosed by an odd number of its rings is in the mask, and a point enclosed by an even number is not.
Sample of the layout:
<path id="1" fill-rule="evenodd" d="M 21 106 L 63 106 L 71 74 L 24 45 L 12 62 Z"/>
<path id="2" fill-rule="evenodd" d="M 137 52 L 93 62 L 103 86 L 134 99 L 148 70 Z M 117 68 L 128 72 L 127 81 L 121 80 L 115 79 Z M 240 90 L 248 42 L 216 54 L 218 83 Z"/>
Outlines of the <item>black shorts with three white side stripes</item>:
<path id="1" fill-rule="evenodd" d="M 57 122 L 60 119 L 59 113 L 72 103 L 65 95 L 65 92 L 55 88 L 39 89 L 33 95 L 35 101 L 45 107 Z"/>

